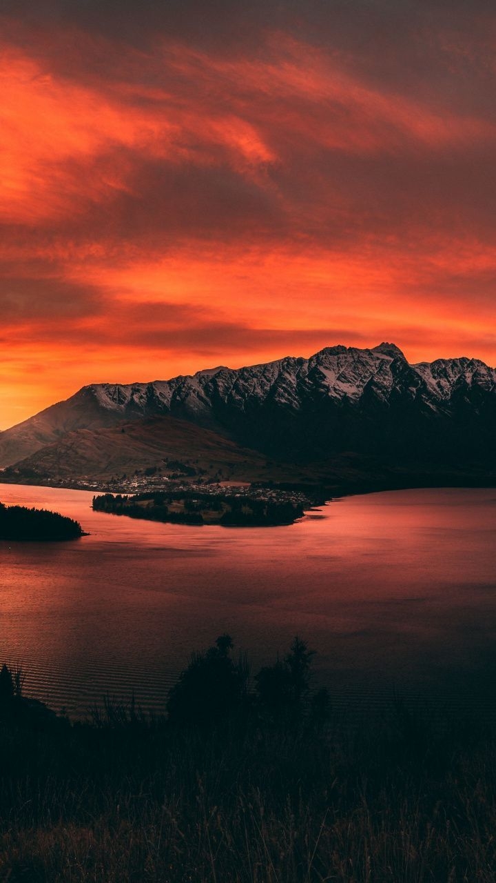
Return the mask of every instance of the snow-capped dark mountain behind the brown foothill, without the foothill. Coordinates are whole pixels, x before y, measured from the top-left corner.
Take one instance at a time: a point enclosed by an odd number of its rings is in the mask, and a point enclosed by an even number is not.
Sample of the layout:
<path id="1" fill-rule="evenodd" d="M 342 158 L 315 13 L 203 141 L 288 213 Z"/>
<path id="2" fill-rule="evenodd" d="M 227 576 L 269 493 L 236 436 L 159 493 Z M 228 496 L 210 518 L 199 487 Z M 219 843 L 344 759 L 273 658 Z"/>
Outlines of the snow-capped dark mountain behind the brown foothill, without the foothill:
<path id="1" fill-rule="evenodd" d="M 169 381 L 91 384 L 1 434 L 0 464 L 74 429 L 168 414 L 286 459 L 357 451 L 492 462 L 496 370 L 475 358 L 410 365 L 394 343 L 380 343 Z"/>

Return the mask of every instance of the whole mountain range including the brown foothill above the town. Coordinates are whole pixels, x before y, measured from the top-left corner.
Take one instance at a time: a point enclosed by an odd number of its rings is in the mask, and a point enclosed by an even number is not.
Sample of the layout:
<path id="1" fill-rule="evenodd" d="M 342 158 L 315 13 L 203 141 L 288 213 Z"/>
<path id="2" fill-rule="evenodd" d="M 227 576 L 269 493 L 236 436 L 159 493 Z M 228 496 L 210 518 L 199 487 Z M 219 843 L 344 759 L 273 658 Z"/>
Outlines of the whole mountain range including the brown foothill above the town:
<path id="1" fill-rule="evenodd" d="M 479 359 L 410 365 L 394 343 L 332 346 L 169 381 L 90 384 L 1 433 L 0 466 L 79 478 L 179 457 L 249 480 L 483 479 L 496 470 L 495 431 L 496 370 Z"/>

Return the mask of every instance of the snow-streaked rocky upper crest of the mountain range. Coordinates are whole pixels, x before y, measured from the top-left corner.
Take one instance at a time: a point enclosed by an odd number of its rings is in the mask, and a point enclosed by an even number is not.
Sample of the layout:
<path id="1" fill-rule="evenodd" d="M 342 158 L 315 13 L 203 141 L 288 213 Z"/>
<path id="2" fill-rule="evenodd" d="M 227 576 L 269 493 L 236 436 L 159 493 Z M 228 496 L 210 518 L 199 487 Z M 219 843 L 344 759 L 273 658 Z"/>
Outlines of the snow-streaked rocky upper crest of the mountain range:
<path id="1" fill-rule="evenodd" d="M 315 396 L 357 407 L 365 400 L 387 407 L 404 400 L 446 413 L 455 396 L 469 396 L 472 389 L 495 394 L 496 370 L 475 358 L 410 365 L 395 343 L 384 342 L 372 349 L 325 347 L 310 358 L 288 356 L 237 370 L 217 366 L 169 381 L 92 384 L 81 392 L 123 418 L 179 413 L 207 423 L 271 404 L 297 412 Z"/>

